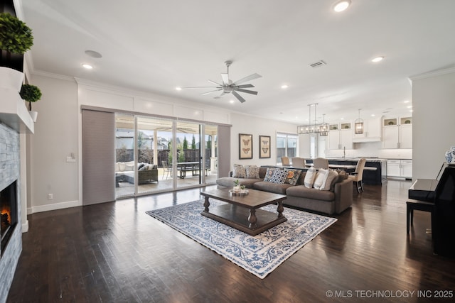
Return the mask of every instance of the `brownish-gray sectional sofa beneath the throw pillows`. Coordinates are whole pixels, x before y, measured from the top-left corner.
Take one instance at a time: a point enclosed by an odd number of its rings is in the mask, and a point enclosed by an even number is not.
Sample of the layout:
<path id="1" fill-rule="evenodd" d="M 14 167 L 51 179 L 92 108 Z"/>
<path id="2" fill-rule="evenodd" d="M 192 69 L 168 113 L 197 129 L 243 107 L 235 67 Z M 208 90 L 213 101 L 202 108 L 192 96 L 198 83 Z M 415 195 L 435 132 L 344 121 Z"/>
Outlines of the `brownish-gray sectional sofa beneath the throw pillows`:
<path id="1" fill-rule="evenodd" d="M 259 167 L 259 179 L 235 178 L 232 177 L 232 172 L 230 172 L 230 177 L 220 177 L 216 183 L 223 187 L 232 187 L 234 186 L 234 181 L 239 180 L 239 183 L 245 185 L 246 188 L 287 195 L 287 199 L 283 201 L 284 205 L 324 214 L 341 214 L 342 211 L 353 204 L 352 180 L 341 180 L 340 177 L 333 182 L 331 190 L 319 190 L 305 187 L 306 172 L 301 172 L 296 185 L 264 181 L 266 172 L 267 167 Z"/>

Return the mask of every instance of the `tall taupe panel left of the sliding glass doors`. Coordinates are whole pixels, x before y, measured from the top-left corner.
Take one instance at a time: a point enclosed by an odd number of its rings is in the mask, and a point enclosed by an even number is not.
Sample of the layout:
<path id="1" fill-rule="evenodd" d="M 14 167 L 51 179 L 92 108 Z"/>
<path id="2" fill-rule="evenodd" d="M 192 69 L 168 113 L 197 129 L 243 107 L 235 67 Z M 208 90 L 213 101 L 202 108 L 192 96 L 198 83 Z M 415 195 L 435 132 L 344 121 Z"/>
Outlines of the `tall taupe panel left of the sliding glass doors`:
<path id="1" fill-rule="evenodd" d="M 82 110 L 82 205 L 115 200 L 115 114 Z"/>

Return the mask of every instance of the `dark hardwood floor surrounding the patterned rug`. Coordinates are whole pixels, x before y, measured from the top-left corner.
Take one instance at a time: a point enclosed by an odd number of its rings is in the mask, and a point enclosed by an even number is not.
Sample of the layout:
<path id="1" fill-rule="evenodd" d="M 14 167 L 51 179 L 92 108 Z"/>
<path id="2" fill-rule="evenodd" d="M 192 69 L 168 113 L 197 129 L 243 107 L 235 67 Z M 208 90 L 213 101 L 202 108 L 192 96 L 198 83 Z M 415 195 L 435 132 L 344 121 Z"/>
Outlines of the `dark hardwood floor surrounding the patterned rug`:
<path id="1" fill-rule="evenodd" d="M 352 209 L 264 280 L 145 214 L 200 189 L 33 214 L 7 302 L 454 302 L 429 213 L 406 234 L 410 184 L 353 189 Z"/>

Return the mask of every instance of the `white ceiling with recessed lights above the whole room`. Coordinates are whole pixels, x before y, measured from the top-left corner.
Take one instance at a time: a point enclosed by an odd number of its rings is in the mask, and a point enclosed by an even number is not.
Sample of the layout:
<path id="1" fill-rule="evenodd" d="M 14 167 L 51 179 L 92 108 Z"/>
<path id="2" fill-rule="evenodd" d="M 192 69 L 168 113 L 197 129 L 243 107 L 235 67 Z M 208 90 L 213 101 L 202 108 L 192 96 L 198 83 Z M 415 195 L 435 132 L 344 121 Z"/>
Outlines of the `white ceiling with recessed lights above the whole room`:
<path id="1" fill-rule="evenodd" d="M 455 1 L 15 0 L 33 30 L 33 72 L 49 72 L 308 123 L 308 104 L 326 121 L 410 115 L 408 77 L 455 66 Z M 85 50 L 95 50 L 93 58 Z M 385 56 L 380 63 L 370 60 Z M 176 87 L 257 72 L 257 96 L 201 95 Z M 313 62 L 327 64 L 312 68 Z M 93 70 L 84 70 L 90 63 Z M 282 84 L 289 85 L 282 89 Z M 389 111 L 388 114 L 383 114 Z M 314 119 L 314 112 L 311 113 Z"/>

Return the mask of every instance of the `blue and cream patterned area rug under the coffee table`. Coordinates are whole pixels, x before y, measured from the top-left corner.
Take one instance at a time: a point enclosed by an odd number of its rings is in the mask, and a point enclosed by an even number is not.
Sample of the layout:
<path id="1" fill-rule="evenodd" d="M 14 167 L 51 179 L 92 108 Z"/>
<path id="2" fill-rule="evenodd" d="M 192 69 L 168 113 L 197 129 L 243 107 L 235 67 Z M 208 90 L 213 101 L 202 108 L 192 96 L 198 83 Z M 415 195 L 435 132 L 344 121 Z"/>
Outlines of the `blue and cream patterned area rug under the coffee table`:
<path id="1" fill-rule="evenodd" d="M 225 203 L 210 199 L 210 206 L 220 204 Z M 277 206 L 268 205 L 262 209 L 276 212 Z M 257 236 L 250 236 L 202 216 L 200 214 L 202 210 L 203 199 L 146 211 L 146 214 L 159 219 L 261 279 L 336 221 L 335 218 L 285 208 L 283 214 L 287 217 L 286 222 Z"/>

